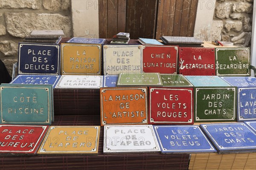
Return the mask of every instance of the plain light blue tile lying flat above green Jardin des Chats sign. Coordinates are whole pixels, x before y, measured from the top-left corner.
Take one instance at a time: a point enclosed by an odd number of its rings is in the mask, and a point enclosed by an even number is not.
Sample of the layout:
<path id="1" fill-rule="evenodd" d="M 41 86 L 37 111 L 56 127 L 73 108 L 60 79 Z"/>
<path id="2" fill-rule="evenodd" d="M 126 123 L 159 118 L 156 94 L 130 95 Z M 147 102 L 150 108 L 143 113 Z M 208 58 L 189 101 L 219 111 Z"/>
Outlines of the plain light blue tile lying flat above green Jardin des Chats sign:
<path id="1" fill-rule="evenodd" d="M 185 76 L 195 87 L 227 87 L 227 82 L 218 76 Z"/>

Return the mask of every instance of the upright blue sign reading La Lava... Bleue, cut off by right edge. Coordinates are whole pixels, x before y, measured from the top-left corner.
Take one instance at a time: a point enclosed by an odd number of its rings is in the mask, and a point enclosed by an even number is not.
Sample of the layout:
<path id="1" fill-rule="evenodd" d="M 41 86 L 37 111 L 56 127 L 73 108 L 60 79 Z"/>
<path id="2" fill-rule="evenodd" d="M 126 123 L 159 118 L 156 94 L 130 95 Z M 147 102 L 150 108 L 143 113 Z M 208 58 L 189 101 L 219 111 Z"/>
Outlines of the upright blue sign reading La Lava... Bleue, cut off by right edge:
<path id="1" fill-rule="evenodd" d="M 256 120 L 256 88 L 238 89 L 238 121 Z"/>

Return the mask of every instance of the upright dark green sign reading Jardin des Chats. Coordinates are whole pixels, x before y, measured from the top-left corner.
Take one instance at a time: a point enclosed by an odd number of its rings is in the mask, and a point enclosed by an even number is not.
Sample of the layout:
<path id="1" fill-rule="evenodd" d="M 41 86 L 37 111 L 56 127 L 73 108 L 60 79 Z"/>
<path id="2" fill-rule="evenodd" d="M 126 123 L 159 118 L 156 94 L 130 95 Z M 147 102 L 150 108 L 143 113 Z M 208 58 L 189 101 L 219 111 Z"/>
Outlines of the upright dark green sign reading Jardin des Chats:
<path id="1" fill-rule="evenodd" d="M 195 122 L 236 120 L 236 88 L 195 88 Z"/>

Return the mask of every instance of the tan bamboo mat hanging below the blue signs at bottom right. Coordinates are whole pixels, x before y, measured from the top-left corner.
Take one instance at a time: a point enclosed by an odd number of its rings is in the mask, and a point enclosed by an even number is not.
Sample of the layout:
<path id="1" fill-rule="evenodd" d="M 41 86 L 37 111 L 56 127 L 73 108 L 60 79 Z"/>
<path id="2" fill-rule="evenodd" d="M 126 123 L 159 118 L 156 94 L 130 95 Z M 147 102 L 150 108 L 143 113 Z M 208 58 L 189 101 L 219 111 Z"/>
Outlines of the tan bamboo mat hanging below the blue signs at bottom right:
<path id="1" fill-rule="evenodd" d="M 189 170 L 255 170 L 256 153 L 192 154 Z"/>

